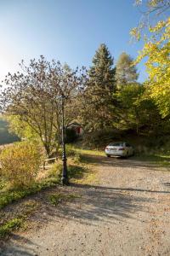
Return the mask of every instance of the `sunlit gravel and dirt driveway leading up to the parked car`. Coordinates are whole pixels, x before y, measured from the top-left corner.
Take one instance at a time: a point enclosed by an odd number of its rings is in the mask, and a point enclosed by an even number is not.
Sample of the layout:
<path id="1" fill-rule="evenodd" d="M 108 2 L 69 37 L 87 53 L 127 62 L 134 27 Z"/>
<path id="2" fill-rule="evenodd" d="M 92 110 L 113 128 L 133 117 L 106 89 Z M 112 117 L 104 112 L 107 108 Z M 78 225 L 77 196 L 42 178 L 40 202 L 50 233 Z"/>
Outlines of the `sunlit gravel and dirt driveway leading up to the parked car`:
<path id="1" fill-rule="evenodd" d="M 147 161 L 89 156 L 99 183 L 61 188 L 79 198 L 43 203 L 34 229 L 0 255 L 170 255 L 170 173 Z"/>

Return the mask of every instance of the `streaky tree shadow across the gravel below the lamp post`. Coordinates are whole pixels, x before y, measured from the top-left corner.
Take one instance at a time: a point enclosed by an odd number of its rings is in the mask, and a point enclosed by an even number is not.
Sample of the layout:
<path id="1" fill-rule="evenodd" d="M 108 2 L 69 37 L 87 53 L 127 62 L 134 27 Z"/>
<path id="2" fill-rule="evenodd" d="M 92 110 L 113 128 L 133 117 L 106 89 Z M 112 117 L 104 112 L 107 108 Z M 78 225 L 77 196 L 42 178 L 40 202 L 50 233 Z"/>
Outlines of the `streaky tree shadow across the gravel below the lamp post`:
<path id="1" fill-rule="evenodd" d="M 64 205 L 61 203 L 53 207 L 47 201 L 44 202 L 42 212 L 48 214 L 45 221 L 53 222 L 57 217 L 88 225 L 98 225 L 99 222 L 103 224 L 127 222 L 130 218 L 136 218 L 135 212 L 148 210 L 144 202 L 154 201 L 143 196 L 132 196 L 128 189 L 72 184 L 70 189 L 63 191 L 66 194 L 72 192 L 77 195 L 77 199 Z M 41 221 L 44 221 L 43 214 L 40 216 Z"/>

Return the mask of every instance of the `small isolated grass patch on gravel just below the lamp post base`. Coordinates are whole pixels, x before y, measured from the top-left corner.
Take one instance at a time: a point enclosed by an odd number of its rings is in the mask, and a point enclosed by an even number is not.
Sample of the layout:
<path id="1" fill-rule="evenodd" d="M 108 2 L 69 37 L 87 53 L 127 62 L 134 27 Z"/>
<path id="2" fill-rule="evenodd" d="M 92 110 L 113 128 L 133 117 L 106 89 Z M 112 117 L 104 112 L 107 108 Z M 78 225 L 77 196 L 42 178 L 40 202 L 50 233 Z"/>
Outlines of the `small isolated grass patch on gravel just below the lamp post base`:
<path id="1" fill-rule="evenodd" d="M 55 194 L 48 195 L 48 201 L 50 202 L 51 205 L 56 207 L 61 202 L 71 201 L 78 197 L 80 197 L 80 195 L 76 195 L 76 194 L 65 195 L 62 193 L 55 193 Z"/>

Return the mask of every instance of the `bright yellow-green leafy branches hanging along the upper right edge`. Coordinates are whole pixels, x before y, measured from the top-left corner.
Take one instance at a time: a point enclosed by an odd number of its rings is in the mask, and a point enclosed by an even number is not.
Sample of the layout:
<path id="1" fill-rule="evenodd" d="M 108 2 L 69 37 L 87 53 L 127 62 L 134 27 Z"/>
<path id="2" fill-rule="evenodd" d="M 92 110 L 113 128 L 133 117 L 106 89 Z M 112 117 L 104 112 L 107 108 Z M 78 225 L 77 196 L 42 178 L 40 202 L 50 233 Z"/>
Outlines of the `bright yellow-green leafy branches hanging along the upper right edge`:
<path id="1" fill-rule="evenodd" d="M 163 118 L 170 116 L 170 18 L 159 21 L 155 27 L 150 27 L 150 32 L 157 33 L 155 39 L 150 39 L 137 58 L 137 62 L 147 56 L 145 62 L 149 79 L 149 95 L 160 109 Z"/>

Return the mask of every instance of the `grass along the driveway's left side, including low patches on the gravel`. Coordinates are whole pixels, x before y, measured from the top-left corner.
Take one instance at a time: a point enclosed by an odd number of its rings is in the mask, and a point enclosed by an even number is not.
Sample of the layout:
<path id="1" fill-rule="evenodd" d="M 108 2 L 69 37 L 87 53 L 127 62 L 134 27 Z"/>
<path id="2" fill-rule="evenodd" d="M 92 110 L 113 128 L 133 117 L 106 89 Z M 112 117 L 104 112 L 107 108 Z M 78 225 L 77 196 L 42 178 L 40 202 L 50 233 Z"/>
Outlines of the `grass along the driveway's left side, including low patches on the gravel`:
<path id="1" fill-rule="evenodd" d="M 93 150 L 79 150 L 71 149 L 70 156 L 67 159 L 68 163 L 68 176 L 71 182 L 74 183 L 94 183 L 96 180 L 96 173 L 91 171 L 89 163 L 85 162 L 83 154 L 98 154 L 99 152 L 94 152 Z M 26 199 L 23 205 L 23 202 L 20 199 L 26 198 L 28 195 L 37 194 L 42 189 L 48 189 L 56 186 L 60 183 L 62 172 L 62 161 L 59 160 L 54 166 L 48 171 L 48 176 L 43 177 L 41 180 L 32 183 L 28 188 L 22 189 L 10 189 L 8 184 L 0 179 L 0 210 L 8 206 L 14 201 L 19 201 L 19 204 L 11 206 L 11 212 L 8 215 L 6 209 L 1 211 L 0 219 L 0 239 L 6 239 L 14 230 L 20 230 L 25 228 L 27 225 L 27 218 L 34 212 L 38 205 L 37 202 L 30 199 Z M 64 194 L 63 192 L 48 194 L 45 192 L 45 198 L 47 201 L 54 207 L 57 207 L 59 203 L 66 201 L 72 201 L 80 195 L 77 194 Z M 47 197 L 46 197 L 47 196 Z M 16 207 L 19 207 L 20 211 L 14 210 Z M 16 212 L 20 212 L 16 213 Z"/>

